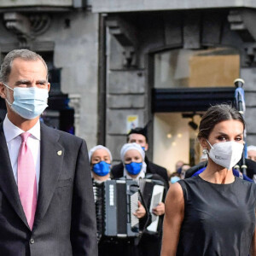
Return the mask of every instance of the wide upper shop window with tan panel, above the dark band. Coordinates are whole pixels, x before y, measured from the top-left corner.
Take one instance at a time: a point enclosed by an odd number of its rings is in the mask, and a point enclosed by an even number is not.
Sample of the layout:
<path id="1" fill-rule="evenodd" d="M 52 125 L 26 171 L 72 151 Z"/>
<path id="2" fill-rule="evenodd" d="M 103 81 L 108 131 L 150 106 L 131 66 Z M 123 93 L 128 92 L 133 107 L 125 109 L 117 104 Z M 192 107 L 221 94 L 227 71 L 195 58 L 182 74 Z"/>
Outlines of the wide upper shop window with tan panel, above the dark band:
<path id="1" fill-rule="evenodd" d="M 236 49 L 174 49 L 154 55 L 154 88 L 234 86 L 239 71 Z"/>

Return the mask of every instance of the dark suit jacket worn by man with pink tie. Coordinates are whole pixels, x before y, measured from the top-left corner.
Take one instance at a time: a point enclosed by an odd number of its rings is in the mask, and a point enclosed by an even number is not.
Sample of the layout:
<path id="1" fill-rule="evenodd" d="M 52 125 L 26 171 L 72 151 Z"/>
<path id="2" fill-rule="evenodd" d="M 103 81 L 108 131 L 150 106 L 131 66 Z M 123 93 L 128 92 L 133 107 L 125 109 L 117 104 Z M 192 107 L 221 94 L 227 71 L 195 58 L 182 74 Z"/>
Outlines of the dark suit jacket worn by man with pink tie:
<path id="1" fill-rule="evenodd" d="M 97 255 L 95 204 L 84 140 L 41 124 L 38 206 L 30 230 L 0 124 L 0 254 Z"/>

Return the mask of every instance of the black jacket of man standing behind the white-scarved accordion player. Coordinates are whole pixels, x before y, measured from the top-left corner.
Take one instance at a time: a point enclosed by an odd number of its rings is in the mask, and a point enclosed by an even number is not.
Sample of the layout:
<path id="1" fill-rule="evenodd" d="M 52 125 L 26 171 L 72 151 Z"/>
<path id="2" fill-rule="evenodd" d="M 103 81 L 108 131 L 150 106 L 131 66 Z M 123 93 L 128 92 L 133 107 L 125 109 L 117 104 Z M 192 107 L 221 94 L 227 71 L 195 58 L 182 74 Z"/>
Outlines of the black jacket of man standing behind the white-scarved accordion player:
<path id="1" fill-rule="evenodd" d="M 166 188 L 169 188 L 169 179 L 167 176 L 166 168 L 164 168 L 162 166 L 155 165 L 154 163 L 152 163 L 151 161 L 148 160 L 147 156 L 145 157 L 145 163 L 147 164 L 146 174 L 151 173 L 151 174 L 160 175 L 160 177 L 162 177 L 166 183 Z M 113 166 L 111 173 L 112 173 L 113 178 L 123 177 L 123 175 L 124 175 L 123 163 L 119 163 L 118 165 Z"/>

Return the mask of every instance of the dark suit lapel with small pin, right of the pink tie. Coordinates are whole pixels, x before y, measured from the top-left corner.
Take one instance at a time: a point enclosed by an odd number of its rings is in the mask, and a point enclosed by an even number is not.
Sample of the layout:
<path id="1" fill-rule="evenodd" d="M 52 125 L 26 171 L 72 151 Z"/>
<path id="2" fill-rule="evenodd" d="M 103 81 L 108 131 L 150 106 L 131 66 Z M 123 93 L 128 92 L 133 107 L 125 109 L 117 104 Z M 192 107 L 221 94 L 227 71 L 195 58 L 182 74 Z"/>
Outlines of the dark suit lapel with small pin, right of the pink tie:
<path id="1" fill-rule="evenodd" d="M 41 124 L 40 179 L 34 228 L 49 207 L 60 174 L 64 149 L 58 143 L 59 137 L 54 129 Z"/>

